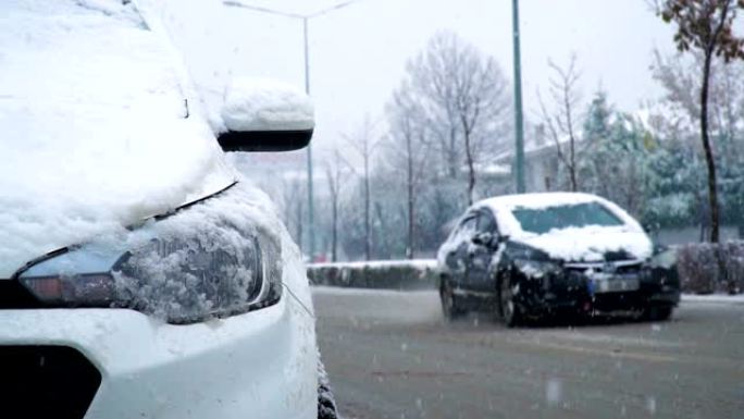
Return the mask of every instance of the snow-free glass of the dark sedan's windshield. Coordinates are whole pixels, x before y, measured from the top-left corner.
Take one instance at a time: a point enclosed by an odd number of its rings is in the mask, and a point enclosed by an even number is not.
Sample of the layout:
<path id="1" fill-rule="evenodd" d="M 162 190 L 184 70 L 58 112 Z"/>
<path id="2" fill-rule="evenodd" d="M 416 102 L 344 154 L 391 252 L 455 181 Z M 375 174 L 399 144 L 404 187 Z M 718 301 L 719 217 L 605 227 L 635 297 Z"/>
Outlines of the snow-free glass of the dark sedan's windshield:
<path id="1" fill-rule="evenodd" d="M 511 211 L 522 230 L 544 234 L 550 230 L 583 227 L 587 225 L 615 226 L 623 225 L 599 202 L 563 205 L 541 209 L 517 208 Z"/>

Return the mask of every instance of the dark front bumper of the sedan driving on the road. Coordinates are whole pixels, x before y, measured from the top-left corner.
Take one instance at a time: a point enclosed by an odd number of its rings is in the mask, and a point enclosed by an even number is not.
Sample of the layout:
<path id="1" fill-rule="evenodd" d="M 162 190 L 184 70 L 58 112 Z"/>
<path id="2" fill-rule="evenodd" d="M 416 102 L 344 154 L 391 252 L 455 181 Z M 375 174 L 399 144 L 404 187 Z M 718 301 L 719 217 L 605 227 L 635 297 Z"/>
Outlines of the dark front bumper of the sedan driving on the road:
<path id="1" fill-rule="evenodd" d="M 624 273 L 622 279 L 637 281 L 637 289 L 599 292 L 590 274 L 579 270 L 528 278 L 520 283 L 518 304 L 525 312 L 546 313 L 637 311 L 652 306 L 674 307 L 680 301 L 679 280 L 673 270 L 644 268 Z"/>

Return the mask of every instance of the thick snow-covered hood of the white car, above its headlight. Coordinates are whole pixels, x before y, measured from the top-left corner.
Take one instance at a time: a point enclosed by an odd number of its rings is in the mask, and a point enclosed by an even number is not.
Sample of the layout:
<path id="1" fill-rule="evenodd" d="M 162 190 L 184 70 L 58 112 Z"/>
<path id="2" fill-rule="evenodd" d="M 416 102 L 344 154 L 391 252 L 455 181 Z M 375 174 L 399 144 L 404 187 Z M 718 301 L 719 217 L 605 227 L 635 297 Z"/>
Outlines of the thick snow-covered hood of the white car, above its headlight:
<path id="1" fill-rule="evenodd" d="M 235 173 L 133 3 L 0 3 L 0 279 Z"/>

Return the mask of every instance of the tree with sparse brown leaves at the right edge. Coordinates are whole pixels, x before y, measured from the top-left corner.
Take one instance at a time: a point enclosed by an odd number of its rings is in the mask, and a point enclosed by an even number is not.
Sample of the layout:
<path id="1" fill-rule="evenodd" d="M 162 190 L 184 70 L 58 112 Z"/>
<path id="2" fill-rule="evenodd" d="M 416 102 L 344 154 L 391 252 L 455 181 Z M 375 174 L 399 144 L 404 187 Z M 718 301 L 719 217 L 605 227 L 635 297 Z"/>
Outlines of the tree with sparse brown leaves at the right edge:
<path id="1" fill-rule="evenodd" d="M 710 206 L 710 242 L 718 243 L 720 209 L 716 176 L 716 161 L 708 132 L 708 97 L 714 57 L 726 62 L 744 60 L 744 38 L 733 34 L 737 9 L 744 0 L 662 0 L 657 13 L 667 23 L 677 24 L 674 42 L 678 50 L 698 50 L 703 53 L 700 74 L 699 128 L 705 161 L 708 168 L 708 201 Z"/>

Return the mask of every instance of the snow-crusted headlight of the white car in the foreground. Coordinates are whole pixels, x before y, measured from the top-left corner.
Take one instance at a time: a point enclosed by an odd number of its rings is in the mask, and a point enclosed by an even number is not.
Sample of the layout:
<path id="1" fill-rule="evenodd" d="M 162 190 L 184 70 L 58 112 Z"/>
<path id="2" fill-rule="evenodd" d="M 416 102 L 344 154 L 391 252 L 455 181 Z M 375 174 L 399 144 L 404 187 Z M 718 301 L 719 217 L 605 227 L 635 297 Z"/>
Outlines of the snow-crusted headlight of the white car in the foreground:
<path id="1" fill-rule="evenodd" d="M 18 281 L 45 306 L 131 308 L 169 323 L 247 312 L 281 297 L 273 241 L 218 227 L 134 242 L 128 249 L 71 248 L 34 263 Z"/>

